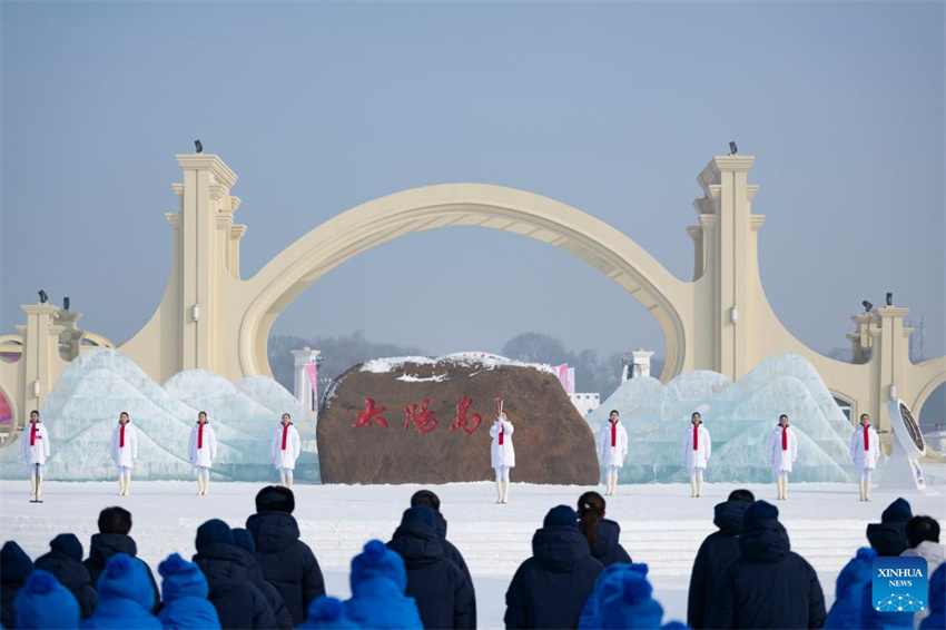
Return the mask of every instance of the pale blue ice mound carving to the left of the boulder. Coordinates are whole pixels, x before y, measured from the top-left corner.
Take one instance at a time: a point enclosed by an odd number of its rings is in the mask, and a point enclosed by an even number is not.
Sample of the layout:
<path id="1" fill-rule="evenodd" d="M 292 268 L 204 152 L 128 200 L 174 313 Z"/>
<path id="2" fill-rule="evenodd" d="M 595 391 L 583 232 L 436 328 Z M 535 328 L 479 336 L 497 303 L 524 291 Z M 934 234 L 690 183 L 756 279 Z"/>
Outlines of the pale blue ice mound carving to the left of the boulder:
<path id="1" fill-rule="evenodd" d="M 122 411 L 138 431 L 132 479 L 190 480 L 187 440 L 197 412 L 206 411 L 218 442 L 215 479 L 278 480 L 269 441 L 282 414 L 289 413 L 303 439 L 296 479 L 318 481 L 315 422 L 285 387 L 266 376 L 233 384 L 213 372 L 190 370 L 161 387 L 120 352 L 101 348 L 70 364 L 40 411 L 52 446 L 46 470 L 50 480 L 114 480 L 109 449 Z M 27 474 L 20 447 L 17 439 L 0 451 L 0 479 Z"/>

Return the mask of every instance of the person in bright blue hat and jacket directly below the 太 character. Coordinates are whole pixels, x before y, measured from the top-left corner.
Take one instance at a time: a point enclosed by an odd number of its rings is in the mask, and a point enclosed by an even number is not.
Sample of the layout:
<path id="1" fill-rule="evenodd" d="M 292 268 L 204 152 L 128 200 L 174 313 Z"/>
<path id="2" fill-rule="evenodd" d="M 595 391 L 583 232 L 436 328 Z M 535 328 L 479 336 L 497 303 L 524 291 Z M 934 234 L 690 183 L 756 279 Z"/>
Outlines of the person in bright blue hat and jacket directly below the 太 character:
<path id="1" fill-rule="evenodd" d="M 404 597 L 407 571 L 404 561 L 380 540 L 365 544 L 352 560 L 352 599 L 345 616 L 362 628 L 421 630 L 421 613 L 413 599 Z"/>

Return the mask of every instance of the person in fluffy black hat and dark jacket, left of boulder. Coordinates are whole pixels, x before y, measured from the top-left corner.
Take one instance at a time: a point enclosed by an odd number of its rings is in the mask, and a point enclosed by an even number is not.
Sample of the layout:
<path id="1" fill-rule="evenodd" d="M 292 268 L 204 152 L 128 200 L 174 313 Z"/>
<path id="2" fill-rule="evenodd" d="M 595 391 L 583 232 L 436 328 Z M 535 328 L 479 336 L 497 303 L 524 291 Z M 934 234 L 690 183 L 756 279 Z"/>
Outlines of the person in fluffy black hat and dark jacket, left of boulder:
<path id="1" fill-rule="evenodd" d="M 325 581 L 312 549 L 299 540 L 295 508 L 292 490 L 268 485 L 257 493 L 256 514 L 246 520 L 246 529 L 256 543 L 263 577 L 279 591 L 298 626 L 308 604 L 325 594 Z"/>

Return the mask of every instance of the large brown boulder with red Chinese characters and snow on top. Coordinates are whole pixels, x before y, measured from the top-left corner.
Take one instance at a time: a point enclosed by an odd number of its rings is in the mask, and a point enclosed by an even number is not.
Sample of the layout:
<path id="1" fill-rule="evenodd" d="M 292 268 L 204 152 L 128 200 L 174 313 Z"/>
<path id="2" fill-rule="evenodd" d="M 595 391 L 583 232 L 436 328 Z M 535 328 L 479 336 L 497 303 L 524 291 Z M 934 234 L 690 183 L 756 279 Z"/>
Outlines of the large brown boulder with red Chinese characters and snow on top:
<path id="1" fill-rule="evenodd" d="M 318 412 L 322 482 L 492 480 L 490 425 L 496 397 L 515 426 L 513 481 L 598 483 L 594 436 L 559 380 L 489 355 L 380 360 L 345 372 Z M 369 406 L 385 411 L 371 414 Z"/>

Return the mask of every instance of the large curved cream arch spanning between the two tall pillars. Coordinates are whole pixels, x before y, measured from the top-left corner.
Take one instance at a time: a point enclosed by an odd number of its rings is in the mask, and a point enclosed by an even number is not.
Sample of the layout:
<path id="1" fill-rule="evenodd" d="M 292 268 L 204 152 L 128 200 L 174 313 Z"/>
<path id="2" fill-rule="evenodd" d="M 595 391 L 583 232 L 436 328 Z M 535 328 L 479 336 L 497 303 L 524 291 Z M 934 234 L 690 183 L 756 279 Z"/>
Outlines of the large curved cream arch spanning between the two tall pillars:
<path id="1" fill-rule="evenodd" d="M 266 345 L 279 313 L 337 265 L 381 243 L 424 230 L 479 226 L 553 245 L 592 265 L 653 314 L 666 342 L 662 380 L 692 363 L 693 284 L 683 283 L 608 224 L 548 197 L 500 186 L 452 184 L 375 199 L 316 227 L 253 278 L 239 327 L 245 374 L 270 374 Z"/>

